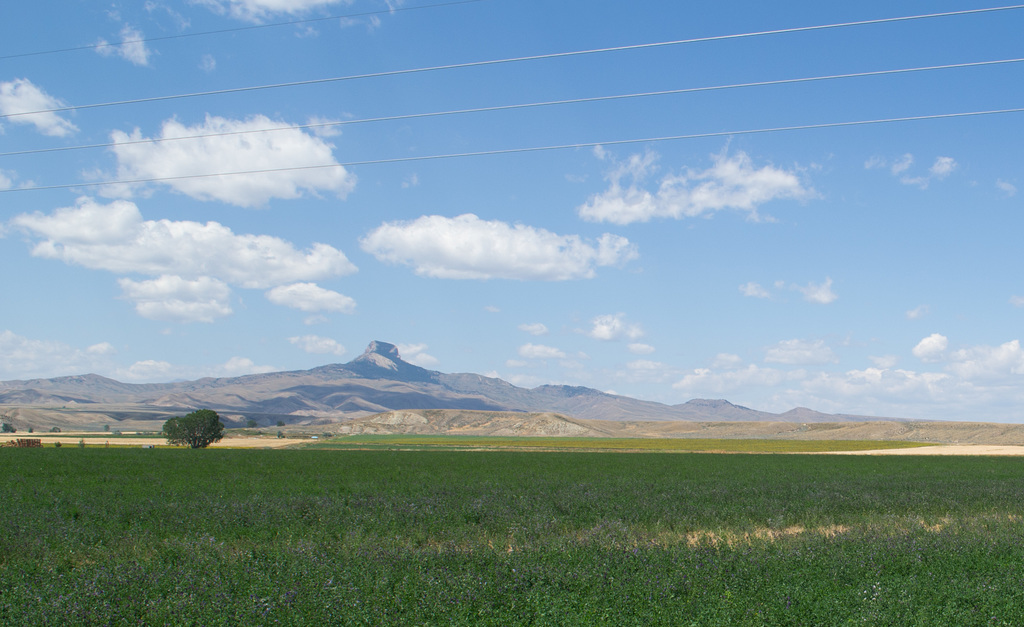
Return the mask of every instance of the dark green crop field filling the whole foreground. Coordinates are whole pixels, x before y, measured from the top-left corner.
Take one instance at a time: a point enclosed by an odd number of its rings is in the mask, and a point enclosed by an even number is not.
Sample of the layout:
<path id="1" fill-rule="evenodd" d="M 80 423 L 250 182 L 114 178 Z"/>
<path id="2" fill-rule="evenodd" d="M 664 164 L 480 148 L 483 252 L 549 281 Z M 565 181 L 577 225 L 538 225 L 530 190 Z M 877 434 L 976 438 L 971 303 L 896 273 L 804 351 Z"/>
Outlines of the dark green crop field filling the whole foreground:
<path id="1" fill-rule="evenodd" d="M 1020 625 L 1024 464 L 4 449 L 4 625 Z"/>

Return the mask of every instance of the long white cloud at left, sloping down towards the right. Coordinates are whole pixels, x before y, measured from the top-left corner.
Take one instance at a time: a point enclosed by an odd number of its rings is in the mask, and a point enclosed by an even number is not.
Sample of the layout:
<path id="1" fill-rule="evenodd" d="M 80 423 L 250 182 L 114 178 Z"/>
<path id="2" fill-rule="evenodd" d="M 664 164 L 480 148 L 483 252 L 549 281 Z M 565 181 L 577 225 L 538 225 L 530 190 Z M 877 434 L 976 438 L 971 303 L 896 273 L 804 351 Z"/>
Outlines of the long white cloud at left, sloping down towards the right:
<path id="1" fill-rule="evenodd" d="M 280 238 L 236 235 L 217 222 L 143 220 L 128 201 L 101 205 L 89 198 L 52 214 L 22 214 L 11 224 L 40 238 L 37 257 L 121 275 L 210 277 L 250 289 L 338 277 L 355 271 L 327 244 L 305 251 Z"/>

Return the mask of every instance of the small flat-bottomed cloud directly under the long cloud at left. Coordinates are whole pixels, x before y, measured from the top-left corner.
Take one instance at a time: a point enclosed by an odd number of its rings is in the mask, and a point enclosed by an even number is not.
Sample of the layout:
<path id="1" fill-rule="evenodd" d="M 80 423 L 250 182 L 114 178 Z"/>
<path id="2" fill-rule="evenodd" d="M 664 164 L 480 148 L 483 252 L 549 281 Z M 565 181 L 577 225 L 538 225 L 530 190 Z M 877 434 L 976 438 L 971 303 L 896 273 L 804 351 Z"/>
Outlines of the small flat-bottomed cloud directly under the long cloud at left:
<path id="1" fill-rule="evenodd" d="M 210 277 L 188 281 L 164 275 L 141 282 L 119 279 L 118 284 L 125 297 L 135 302 L 138 315 L 150 320 L 212 323 L 231 315 L 230 288 Z"/>

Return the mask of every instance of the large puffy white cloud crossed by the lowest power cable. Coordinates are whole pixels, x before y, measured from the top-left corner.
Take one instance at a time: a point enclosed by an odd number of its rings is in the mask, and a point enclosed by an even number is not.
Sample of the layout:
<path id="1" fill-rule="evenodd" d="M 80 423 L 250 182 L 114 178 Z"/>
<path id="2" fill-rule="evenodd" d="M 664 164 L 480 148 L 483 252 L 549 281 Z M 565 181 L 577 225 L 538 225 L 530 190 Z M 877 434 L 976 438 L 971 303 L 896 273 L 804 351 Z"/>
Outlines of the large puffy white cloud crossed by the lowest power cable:
<path id="1" fill-rule="evenodd" d="M 284 130 L 265 130 L 271 128 Z M 159 182 L 198 200 L 259 207 L 273 198 L 322 191 L 344 199 L 355 187 L 355 175 L 338 165 L 333 144 L 265 116 L 228 120 L 208 115 L 195 126 L 167 120 L 158 138 L 142 137 L 136 128 L 131 134 L 113 131 L 111 139 L 119 178 L 164 179 Z M 217 172 L 257 173 L 208 176 Z M 124 185 L 110 192 L 119 190 Z"/>

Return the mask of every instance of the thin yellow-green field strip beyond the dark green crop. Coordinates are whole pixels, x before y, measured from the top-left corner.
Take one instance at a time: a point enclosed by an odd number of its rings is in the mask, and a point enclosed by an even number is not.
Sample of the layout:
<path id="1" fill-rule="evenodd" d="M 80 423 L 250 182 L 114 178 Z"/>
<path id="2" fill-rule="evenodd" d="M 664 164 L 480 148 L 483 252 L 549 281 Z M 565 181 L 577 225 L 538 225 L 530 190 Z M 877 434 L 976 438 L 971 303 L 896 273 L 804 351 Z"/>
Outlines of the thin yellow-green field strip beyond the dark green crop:
<path id="1" fill-rule="evenodd" d="M 495 435 L 348 435 L 315 445 L 318 449 L 550 449 L 588 451 L 678 451 L 692 453 L 834 453 L 934 446 L 877 440 L 739 440 L 697 437 L 566 437 Z"/>

